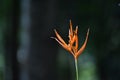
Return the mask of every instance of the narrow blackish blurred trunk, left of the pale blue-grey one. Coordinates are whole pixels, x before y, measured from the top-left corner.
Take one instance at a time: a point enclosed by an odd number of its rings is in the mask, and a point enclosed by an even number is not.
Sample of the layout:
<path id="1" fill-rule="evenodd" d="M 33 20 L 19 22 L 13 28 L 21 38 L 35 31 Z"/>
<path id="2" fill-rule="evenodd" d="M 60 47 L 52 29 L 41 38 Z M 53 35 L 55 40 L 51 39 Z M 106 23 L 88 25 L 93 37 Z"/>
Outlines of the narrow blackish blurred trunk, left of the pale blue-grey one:
<path id="1" fill-rule="evenodd" d="M 5 32 L 5 80 L 18 80 L 18 26 L 19 26 L 19 0 L 12 0 L 7 8 L 7 29 Z"/>

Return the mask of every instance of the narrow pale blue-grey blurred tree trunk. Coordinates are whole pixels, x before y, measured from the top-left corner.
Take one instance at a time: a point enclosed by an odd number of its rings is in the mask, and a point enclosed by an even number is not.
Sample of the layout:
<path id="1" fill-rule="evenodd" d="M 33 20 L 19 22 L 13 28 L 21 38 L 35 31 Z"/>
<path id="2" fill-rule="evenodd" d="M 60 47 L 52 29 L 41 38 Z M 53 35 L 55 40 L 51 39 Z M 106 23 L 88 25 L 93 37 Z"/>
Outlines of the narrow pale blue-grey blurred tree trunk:
<path id="1" fill-rule="evenodd" d="M 21 0 L 20 5 L 20 45 L 17 58 L 20 67 L 19 80 L 29 80 L 28 77 L 28 55 L 30 47 L 30 0 Z"/>

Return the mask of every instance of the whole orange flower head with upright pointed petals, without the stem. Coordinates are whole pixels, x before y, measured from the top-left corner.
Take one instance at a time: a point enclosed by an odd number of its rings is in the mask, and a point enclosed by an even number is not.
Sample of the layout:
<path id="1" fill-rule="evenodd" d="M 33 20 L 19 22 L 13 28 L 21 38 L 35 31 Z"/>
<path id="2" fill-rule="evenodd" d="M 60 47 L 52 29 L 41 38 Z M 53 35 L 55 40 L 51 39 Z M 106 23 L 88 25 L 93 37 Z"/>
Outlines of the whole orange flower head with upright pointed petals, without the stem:
<path id="1" fill-rule="evenodd" d="M 66 49 L 67 51 L 72 53 L 74 58 L 77 59 L 78 56 L 84 51 L 84 49 L 86 47 L 88 35 L 89 35 L 89 29 L 87 31 L 87 35 L 86 35 L 86 39 L 84 41 L 84 44 L 82 45 L 82 47 L 79 50 L 78 50 L 78 26 L 76 26 L 76 29 L 73 30 L 71 20 L 70 20 L 68 44 L 62 39 L 62 37 L 58 34 L 58 32 L 56 30 L 54 30 L 54 31 L 56 34 L 56 38 L 55 37 L 52 37 L 52 38 L 54 38 L 64 49 Z"/>

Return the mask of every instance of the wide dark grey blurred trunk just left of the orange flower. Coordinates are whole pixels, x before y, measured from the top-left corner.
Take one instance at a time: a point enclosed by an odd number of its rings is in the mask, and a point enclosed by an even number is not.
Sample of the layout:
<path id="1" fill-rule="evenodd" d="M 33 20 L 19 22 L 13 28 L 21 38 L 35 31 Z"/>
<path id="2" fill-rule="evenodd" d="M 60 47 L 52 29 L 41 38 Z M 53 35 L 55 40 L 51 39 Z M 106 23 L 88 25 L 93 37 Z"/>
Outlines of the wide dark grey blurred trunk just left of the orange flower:
<path id="1" fill-rule="evenodd" d="M 30 80 L 57 80 L 56 55 L 53 36 L 56 0 L 31 1 L 30 52 L 28 57 Z"/>

